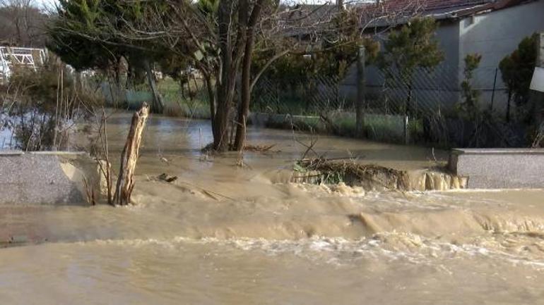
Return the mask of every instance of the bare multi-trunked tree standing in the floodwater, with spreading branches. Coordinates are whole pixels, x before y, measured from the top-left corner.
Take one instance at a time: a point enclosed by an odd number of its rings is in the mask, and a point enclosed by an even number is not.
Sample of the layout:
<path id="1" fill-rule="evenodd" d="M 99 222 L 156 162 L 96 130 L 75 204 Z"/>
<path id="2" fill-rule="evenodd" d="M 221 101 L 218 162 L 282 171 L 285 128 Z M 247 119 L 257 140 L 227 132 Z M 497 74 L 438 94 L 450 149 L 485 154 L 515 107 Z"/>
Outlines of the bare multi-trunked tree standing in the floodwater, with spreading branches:
<path id="1" fill-rule="evenodd" d="M 421 1 L 407 0 L 406 3 L 413 5 L 406 8 L 389 7 L 388 1 L 357 6 L 353 13 L 361 18 L 355 26 L 364 32 L 370 25 L 377 27 L 384 17 L 394 18 L 398 11 L 417 11 L 416 2 Z M 228 129 L 235 117 L 238 86 L 237 122 L 232 127 L 236 129 L 233 147 L 240 150 L 252 88 L 264 70 L 285 54 L 314 49 L 312 46 L 317 45 L 319 37 L 343 26 L 333 25 L 331 21 L 348 4 L 304 6 L 279 0 L 218 0 L 216 8 L 201 4 L 202 1 L 148 1 L 137 19 L 123 14 L 108 15 L 98 20 L 105 31 L 76 34 L 112 46 L 160 49 L 184 58 L 199 69 L 208 93 L 216 151 L 229 148 Z M 118 5 L 131 8 L 133 1 L 121 0 Z M 274 55 L 264 67 L 252 71 L 253 54 L 270 50 L 275 50 Z"/>

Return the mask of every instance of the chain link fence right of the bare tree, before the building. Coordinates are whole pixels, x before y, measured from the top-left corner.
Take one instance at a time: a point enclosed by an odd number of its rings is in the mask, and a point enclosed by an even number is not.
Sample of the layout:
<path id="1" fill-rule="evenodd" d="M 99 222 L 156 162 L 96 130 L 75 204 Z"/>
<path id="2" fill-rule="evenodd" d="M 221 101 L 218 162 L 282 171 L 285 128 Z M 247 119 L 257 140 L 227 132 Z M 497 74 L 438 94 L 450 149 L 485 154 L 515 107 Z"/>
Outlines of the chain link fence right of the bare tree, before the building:
<path id="1" fill-rule="evenodd" d="M 362 130 L 377 141 L 439 147 L 525 147 L 524 107 L 508 106 L 496 67 L 474 71 L 478 106 L 463 107 L 462 70 L 419 68 L 407 85 L 394 69 L 365 70 Z M 357 73 L 336 76 L 261 77 L 252 99 L 252 120 L 268 127 L 355 136 Z M 514 102 L 512 101 L 512 104 Z M 509 115 L 507 115 L 509 113 Z"/>

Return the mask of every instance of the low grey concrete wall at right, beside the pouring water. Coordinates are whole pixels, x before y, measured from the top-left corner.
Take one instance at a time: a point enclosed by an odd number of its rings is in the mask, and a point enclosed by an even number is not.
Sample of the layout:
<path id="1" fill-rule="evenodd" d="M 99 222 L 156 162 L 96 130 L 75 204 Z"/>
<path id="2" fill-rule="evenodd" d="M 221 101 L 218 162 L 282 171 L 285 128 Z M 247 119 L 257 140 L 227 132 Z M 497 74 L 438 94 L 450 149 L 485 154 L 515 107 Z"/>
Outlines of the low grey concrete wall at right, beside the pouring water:
<path id="1" fill-rule="evenodd" d="M 454 149 L 449 169 L 471 189 L 544 188 L 544 149 Z"/>

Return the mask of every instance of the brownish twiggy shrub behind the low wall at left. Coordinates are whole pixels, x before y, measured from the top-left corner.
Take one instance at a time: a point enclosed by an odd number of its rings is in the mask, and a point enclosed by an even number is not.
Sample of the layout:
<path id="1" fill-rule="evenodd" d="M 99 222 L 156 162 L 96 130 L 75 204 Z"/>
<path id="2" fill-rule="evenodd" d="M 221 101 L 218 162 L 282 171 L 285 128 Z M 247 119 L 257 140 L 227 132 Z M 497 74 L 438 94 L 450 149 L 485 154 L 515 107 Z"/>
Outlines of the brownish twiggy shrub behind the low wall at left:
<path id="1" fill-rule="evenodd" d="M 1 126 L 11 127 L 15 147 L 25 151 L 66 149 L 76 120 L 103 102 L 78 74 L 54 61 L 37 71 L 16 68 L 4 89 L 4 100 L 12 102 L 4 104 Z"/>

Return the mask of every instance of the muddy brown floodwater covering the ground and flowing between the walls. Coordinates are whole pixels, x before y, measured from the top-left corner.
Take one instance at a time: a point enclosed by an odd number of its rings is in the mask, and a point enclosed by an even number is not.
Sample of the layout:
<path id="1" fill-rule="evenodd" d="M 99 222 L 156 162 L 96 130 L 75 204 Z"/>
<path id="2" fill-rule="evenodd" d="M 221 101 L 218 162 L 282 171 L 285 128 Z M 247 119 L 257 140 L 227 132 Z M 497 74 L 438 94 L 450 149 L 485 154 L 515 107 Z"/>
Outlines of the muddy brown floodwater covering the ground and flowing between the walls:
<path id="1" fill-rule="evenodd" d="M 114 156 L 128 124 L 109 122 Z M 210 134 L 151 118 L 135 206 L 1 207 L 1 235 L 37 244 L 0 249 L 0 304 L 544 304 L 542 190 L 295 185 L 307 135 L 252 128 L 250 144 L 276 146 L 240 168 L 200 153 Z M 323 136 L 315 150 L 404 169 L 447 158 Z"/>

